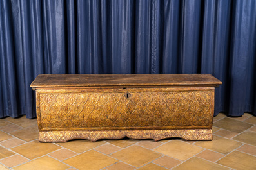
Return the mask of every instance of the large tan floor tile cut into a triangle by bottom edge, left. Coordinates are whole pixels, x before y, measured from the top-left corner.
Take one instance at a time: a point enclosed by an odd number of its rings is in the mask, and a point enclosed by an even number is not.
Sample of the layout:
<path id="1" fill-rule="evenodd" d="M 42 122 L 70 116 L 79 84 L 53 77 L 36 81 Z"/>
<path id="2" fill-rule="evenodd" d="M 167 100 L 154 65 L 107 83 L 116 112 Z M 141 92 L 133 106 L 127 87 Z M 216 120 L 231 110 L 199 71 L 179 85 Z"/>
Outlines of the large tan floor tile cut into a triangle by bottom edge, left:
<path id="1" fill-rule="evenodd" d="M 41 158 L 37 158 L 21 166 L 13 167 L 14 170 L 28 170 L 28 169 L 37 169 L 37 170 L 65 170 L 68 169 L 69 166 L 63 164 L 54 158 L 50 158 L 48 156 L 44 156 Z"/>

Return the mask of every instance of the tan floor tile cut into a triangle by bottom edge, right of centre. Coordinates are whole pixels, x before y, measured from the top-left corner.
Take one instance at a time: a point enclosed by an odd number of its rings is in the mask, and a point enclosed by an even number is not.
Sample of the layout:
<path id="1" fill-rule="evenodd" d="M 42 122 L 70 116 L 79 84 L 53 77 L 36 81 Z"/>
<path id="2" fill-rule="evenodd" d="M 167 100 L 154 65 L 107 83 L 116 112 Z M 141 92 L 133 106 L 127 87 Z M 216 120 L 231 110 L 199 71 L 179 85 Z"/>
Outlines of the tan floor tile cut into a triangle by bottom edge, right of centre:
<path id="1" fill-rule="evenodd" d="M 230 168 L 221 166 L 219 164 L 215 164 L 213 162 L 203 160 L 202 158 L 193 157 L 190 158 L 190 160 L 187 160 L 183 164 L 174 167 L 173 170 L 184 170 L 184 169 L 190 169 L 190 170 L 229 170 Z"/>

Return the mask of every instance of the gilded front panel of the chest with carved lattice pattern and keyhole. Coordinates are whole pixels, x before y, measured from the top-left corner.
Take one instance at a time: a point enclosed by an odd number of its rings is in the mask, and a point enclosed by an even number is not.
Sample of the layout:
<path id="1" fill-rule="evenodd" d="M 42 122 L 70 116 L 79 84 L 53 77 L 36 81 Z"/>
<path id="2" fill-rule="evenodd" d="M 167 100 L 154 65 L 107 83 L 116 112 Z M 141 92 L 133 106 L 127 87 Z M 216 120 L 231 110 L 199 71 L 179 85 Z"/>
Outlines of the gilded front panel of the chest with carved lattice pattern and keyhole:
<path id="1" fill-rule="evenodd" d="M 211 128 L 213 90 L 39 92 L 39 130 Z"/>

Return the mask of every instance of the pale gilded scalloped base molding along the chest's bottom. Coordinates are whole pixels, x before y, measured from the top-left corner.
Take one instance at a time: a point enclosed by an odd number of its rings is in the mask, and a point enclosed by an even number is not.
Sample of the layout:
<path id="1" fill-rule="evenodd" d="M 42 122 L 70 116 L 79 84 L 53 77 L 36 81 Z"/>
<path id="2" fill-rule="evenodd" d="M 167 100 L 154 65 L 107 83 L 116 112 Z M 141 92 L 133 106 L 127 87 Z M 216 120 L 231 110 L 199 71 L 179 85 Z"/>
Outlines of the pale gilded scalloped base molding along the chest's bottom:
<path id="1" fill-rule="evenodd" d="M 73 139 L 153 139 L 155 141 L 180 137 L 185 140 L 212 140 L 212 129 L 181 130 L 86 130 L 86 131 L 41 131 L 39 142 L 67 142 Z"/>

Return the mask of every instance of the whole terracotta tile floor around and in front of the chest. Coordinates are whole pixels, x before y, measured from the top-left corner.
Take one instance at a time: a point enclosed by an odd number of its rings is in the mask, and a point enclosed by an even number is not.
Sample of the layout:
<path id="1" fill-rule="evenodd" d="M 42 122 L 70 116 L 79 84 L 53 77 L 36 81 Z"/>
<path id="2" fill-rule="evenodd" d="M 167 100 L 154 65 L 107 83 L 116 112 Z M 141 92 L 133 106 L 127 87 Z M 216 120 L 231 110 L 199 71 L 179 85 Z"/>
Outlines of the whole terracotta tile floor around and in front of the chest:
<path id="1" fill-rule="evenodd" d="M 256 169 L 256 117 L 213 119 L 213 140 L 39 143 L 36 119 L 0 119 L 1 169 Z"/>

